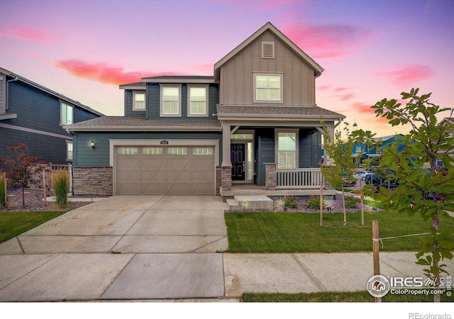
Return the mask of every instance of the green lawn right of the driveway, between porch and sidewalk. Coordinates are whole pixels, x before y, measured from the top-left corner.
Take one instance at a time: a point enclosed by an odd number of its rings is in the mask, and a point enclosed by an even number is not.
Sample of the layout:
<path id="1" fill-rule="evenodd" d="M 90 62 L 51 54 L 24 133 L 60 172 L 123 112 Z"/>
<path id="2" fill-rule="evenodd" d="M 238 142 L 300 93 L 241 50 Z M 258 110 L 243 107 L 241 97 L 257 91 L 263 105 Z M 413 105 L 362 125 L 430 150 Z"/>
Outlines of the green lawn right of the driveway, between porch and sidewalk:
<path id="1" fill-rule="evenodd" d="M 426 233 L 431 221 L 392 211 L 348 213 L 226 213 L 228 252 L 359 252 L 372 250 L 372 220 L 378 220 L 380 237 Z M 454 218 L 441 218 L 440 231 L 454 230 Z M 384 240 L 380 250 L 419 250 L 421 236 Z M 454 240 L 454 236 L 453 236 Z"/>

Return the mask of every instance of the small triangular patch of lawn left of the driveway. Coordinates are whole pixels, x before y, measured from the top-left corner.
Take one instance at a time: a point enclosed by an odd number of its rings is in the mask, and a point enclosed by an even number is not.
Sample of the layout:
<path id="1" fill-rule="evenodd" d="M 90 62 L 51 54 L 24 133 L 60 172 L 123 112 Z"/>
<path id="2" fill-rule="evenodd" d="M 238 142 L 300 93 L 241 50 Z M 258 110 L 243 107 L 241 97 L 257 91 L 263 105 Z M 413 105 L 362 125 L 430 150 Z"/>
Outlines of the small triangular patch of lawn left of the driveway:
<path id="1" fill-rule="evenodd" d="M 6 211 L 0 212 L 0 242 L 51 220 L 66 211 Z"/>

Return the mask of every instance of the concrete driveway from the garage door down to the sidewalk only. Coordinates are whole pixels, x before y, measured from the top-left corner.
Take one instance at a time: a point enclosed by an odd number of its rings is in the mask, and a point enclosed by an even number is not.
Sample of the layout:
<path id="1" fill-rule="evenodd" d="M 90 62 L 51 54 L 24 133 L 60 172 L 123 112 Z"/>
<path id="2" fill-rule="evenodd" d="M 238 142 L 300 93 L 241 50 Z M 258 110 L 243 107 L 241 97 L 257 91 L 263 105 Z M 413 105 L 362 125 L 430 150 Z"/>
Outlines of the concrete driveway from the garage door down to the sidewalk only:
<path id="1" fill-rule="evenodd" d="M 0 254 L 226 250 L 226 208 L 217 196 L 113 196 L 19 235 Z"/>

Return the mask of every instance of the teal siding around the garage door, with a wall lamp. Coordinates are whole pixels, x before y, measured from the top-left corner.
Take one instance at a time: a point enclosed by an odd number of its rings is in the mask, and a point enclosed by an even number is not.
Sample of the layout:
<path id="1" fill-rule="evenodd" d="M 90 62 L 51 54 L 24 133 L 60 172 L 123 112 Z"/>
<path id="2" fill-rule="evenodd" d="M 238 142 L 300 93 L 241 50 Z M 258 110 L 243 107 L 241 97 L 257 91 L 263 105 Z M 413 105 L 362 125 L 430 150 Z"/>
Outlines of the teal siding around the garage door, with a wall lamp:
<path id="1" fill-rule="evenodd" d="M 221 140 L 221 133 L 174 133 L 174 132 L 137 132 L 137 133 L 92 133 L 74 134 L 74 166 L 106 167 L 109 166 L 109 140 Z M 90 146 L 94 140 L 95 148 Z M 221 144 L 221 143 L 220 143 Z M 222 150 L 219 147 L 221 158 Z"/>

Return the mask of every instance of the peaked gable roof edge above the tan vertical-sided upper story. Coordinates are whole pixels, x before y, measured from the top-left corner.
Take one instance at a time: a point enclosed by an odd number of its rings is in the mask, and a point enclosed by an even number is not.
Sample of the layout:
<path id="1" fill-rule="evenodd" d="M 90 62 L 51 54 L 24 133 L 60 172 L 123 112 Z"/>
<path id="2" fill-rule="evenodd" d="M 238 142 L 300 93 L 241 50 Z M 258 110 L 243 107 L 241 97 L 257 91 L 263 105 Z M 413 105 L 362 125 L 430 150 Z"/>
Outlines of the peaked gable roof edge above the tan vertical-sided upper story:
<path id="1" fill-rule="evenodd" d="M 299 48 L 298 45 L 294 44 L 292 42 L 292 40 L 287 38 L 287 36 L 284 35 L 284 33 L 282 33 L 281 31 L 279 31 L 275 26 L 273 26 L 272 23 L 268 22 L 265 24 L 265 26 L 262 26 L 262 28 L 258 29 L 253 35 L 250 35 L 250 37 L 247 38 L 246 40 L 244 40 L 243 43 L 238 45 L 238 47 L 231 50 L 231 52 L 229 52 L 225 57 L 223 57 L 221 60 L 216 62 L 216 64 L 214 65 L 215 79 L 218 79 L 219 68 L 223 64 L 225 64 L 228 60 L 230 60 L 232 57 L 237 55 L 238 52 L 243 50 L 245 47 L 250 45 L 250 43 L 253 43 L 254 40 L 256 40 L 258 37 L 260 37 L 260 35 L 262 35 L 266 31 L 270 31 L 271 33 L 273 33 L 277 38 L 279 38 L 279 40 L 281 40 L 288 47 L 290 47 L 297 55 L 299 55 L 299 57 L 301 57 L 301 60 L 306 61 L 307 64 L 309 64 L 314 69 L 316 77 L 319 77 L 321 72 L 323 72 L 323 67 L 321 67 L 317 62 L 312 60 L 312 58 L 309 57 L 309 55 L 306 55 L 306 53 L 303 50 L 301 50 L 301 48 Z"/>

